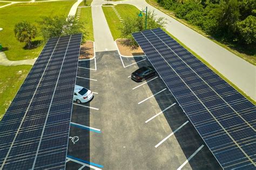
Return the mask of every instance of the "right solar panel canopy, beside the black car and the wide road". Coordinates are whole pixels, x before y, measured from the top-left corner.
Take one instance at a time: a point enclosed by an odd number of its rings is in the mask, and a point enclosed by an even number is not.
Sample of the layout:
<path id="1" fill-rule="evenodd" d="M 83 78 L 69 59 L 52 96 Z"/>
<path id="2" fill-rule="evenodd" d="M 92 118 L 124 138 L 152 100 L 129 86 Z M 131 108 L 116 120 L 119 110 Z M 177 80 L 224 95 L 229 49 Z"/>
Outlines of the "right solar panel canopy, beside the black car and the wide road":
<path id="1" fill-rule="evenodd" d="M 163 30 L 133 37 L 219 164 L 255 169 L 255 105 Z"/>

